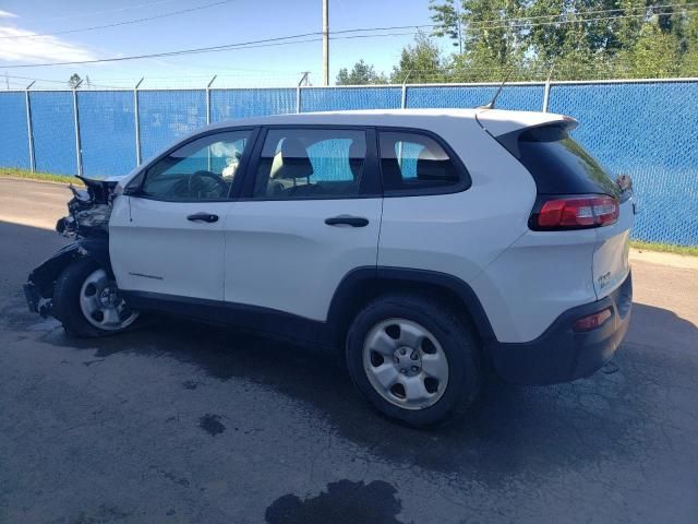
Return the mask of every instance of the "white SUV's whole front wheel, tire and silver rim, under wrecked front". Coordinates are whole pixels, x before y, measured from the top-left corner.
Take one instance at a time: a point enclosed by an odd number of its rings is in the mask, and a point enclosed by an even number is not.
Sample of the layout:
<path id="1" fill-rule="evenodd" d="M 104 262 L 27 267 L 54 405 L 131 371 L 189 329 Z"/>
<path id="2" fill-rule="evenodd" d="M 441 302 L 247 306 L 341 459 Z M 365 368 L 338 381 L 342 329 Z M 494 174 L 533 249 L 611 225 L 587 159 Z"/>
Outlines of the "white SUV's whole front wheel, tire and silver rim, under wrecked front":
<path id="1" fill-rule="evenodd" d="M 89 259 L 76 259 L 56 282 L 53 317 L 69 333 L 94 337 L 125 330 L 139 312 L 129 308 L 104 269 Z"/>

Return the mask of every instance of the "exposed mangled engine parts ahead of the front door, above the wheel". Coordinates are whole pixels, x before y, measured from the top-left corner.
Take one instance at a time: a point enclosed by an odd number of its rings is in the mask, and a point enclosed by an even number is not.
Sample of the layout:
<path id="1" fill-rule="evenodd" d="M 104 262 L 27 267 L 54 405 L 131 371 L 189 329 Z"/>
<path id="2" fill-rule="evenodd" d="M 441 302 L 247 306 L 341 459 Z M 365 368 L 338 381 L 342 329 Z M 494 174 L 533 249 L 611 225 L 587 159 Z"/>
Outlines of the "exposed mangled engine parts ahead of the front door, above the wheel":
<path id="1" fill-rule="evenodd" d="M 69 238 L 85 238 L 107 235 L 111 201 L 117 182 L 80 178 L 86 189 L 79 190 L 69 186 L 73 198 L 68 202 L 69 215 L 59 219 L 56 230 Z"/>

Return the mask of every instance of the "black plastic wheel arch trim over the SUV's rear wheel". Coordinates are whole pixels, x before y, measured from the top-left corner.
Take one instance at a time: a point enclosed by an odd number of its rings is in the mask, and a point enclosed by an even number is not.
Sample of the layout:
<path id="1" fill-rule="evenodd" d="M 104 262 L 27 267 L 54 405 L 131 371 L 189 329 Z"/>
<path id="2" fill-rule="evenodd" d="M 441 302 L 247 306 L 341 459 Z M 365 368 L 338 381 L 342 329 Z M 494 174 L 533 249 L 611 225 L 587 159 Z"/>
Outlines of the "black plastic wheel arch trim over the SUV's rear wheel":
<path id="1" fill-rule="evenodd" d="M 472 288 L 446 273 L 407 267 L 358 267 L 348 273 L 337 287 L 327 314 L 335 345 L 344 347 L 351 321 L 370 300 L 388 293 L 429 295 L 449 307 L 464 320 L 480 347 L 496 341 L 490 320 Z"/>

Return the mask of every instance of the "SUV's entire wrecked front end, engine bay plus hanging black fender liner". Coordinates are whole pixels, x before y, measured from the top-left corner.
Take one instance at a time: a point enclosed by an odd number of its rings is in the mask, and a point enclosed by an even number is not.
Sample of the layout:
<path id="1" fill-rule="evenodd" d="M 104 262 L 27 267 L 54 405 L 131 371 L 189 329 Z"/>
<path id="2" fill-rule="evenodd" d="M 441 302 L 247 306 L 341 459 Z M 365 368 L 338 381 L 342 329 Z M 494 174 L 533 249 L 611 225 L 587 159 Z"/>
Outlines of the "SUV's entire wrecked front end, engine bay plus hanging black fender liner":
<path id="1" fill-rule="evenodd" d="M 69 214 L 56 224 L 56 230 L 73 241 L 32 271 L 24 285 L 29 310 L 45 318 L 51 313 L 56 281 L 74 259 L 92 258 L 111 274 L 109 217 L 117 181 L 77 178 L 85 183 L 85 189 L 69 186 L 73 193 L 68 202 Z"/>

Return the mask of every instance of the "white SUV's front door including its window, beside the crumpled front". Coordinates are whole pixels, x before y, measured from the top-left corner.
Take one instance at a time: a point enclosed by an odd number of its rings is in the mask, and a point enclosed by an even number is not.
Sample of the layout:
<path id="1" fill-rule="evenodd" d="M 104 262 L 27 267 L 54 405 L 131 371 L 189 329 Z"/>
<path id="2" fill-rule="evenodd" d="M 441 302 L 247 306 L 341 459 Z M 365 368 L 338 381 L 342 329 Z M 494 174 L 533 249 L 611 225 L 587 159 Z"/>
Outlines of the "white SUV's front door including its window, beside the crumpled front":
<path id="1" fill-rule="evenodd" d="M 228 196 L 252 134 L 193 139 L 149 165 L 139 188 L 116 200 L 109 251 L 120 289 L 222 300 Z"/>

